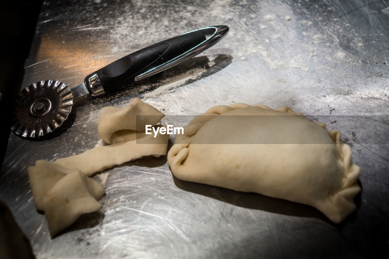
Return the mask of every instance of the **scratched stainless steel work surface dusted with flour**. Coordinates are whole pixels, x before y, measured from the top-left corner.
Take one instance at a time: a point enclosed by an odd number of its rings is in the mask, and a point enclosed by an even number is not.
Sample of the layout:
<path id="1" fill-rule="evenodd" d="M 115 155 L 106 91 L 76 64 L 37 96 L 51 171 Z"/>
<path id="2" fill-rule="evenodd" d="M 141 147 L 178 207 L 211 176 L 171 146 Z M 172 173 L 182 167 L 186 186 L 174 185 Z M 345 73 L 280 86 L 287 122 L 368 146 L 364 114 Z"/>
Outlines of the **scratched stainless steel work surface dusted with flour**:
<path id="1" fill-rule="evenodd" d="M 387 249 L 388 6 L 385 0 L 47 0 L 22 87 L 46 79 L 74 87 L 125 54 L 195 28 L 228 25 L 230 33 L 178 68 L 78 107 L 56 138 L 11 134 L 0 198 L 38 258 L 328 258 Z M 144 158 L 105 170 L 101 212 L 51 239 L 26 167 L 95 147 L 100 108 L 124 107 L 135 96 L 167 115 L 234 102 L 287 105 L 340 129 L 361 166 L 357 212 L 331 224 L 308 206 L 175 179 L 166 158 Z"/>

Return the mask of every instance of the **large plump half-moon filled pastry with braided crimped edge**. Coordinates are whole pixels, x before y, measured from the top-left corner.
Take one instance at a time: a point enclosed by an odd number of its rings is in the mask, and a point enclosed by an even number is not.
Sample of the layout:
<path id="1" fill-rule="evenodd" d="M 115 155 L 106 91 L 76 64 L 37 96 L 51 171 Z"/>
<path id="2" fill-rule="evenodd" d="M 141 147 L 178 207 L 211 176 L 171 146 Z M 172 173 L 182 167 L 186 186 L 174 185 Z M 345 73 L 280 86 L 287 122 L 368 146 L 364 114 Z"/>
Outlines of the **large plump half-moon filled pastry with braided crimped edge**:
<path id="1" fill-rule="evenodd" d="M 304 203 L 335 223 L 356 209 L 360 191 L 340 132 L 288 107 L 212 107 L 177 135 L 168 163 L 179 179 Z"/>

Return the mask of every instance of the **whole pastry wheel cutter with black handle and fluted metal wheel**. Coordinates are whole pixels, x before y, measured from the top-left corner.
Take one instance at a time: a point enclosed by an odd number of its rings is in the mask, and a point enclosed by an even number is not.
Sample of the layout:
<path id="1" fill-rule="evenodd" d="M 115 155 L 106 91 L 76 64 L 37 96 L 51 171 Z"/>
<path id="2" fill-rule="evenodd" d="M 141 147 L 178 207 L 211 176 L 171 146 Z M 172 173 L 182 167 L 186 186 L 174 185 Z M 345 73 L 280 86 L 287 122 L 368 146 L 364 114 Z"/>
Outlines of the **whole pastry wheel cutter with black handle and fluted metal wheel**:
<path id="1" fill-rule="evenodd" d="M 228 26 L 210 26 L 163 40 L 90 73 L 72 89 L 56 80 L 31 84 L 16 97 L 11 130 L 19 137 L 40 138 L 63 125 L 75 100 L 118 91 L 182 63 L 216 44 L 227 32 Z"/>

